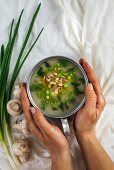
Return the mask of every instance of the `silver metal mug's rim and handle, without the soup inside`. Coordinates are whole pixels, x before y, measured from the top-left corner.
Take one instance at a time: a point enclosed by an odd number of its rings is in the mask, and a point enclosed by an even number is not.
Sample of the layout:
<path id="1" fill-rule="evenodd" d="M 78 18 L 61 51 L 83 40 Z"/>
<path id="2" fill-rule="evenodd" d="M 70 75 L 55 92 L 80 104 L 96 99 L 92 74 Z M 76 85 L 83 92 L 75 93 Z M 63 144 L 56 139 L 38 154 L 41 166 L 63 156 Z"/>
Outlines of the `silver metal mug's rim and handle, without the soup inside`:
<path id="1" fill-rule="evenodd" d="M 87 78 L 87 75 L 84 71 L 84 69 L 82 68 L 82 66 L 76 62 L 74 62 L 73 60 L 67 58 L 67 57 L 63 57 L 63 56 L 52 56 L 52 57 L 48 57 L 42 61 L 40 61 L 38 64 L 36 64 L 36 66 L 33 68 L 33 70 L 31 71 L 29 77 L 28 77 L 28 81 L 27 81 L 27 93 L 28 93 L 28 97 L 29 97 L 29 100 L 31 102 L 31 104 L 34 106 L 34 107 L 37 107 L 38 106 L 36 105 L 35 101 L 33 100 L 32 98 L 32 95 L 31 95 L 31 92 L 30 92 L 30 82 L 31 82 L 31 78 L 32 78 L 32 75 L 34 73 L 34 71 L 41 65 L 43 64 L 44 62 L 46 61 L 49 61 L 51 59 L 65 59 L 67 61 L 69 61 L 71 64 L 75 65 L 76 68 L 78 68 L 80 70 L 80 72 L 82 73 L 83 77 L 84 77 L 84 80 L 85 80 L 85 85 L 88 84 L 88 78 Z M 80 101 L 80 103 L 78 105 L 75 106 L 75 108 L 71 111 L 71 112 L 68 112 L 68 113 L 65 113 L 63 114 L 62 116 L 60 115 L 51 115 L 47 112 L 45 112 L 44 110 L 41 110 L 41 108 L 38 108 L 39 110 L 42 111 L 42 113 L 47 116 L 47 117 L 50 117 L 50 118 L 60 118 L 61 121 L 62 121 L 62 126 L 63 126 L 63 130 L 64 130 L 64 133 L 65 134 L 69 134 L 70 133 L 70 130 L 69 130 L 69 127 L 68 127 L 68 122 L 67 122 L 67 117 L 73 115 L 74 113 L 76 113 L 82 106 L 83 104 L 85 103 L 85 95 L 84 97 L 82 98 L 82 100 Z"/>

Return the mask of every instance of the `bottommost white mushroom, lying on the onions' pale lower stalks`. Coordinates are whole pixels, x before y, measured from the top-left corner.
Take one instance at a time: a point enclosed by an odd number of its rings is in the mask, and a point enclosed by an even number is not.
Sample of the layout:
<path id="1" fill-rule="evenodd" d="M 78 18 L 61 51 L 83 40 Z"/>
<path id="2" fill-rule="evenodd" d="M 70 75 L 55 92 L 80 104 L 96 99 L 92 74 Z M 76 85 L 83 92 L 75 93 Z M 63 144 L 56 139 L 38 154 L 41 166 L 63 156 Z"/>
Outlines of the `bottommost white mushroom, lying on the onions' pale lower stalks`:
<path id="1" fill-rule="evenodd" d="M 30 155 L 30 144 L 26 139 L 17 140 L 12 146 L 13 153 L 17 156 L 29 157 Z"/>

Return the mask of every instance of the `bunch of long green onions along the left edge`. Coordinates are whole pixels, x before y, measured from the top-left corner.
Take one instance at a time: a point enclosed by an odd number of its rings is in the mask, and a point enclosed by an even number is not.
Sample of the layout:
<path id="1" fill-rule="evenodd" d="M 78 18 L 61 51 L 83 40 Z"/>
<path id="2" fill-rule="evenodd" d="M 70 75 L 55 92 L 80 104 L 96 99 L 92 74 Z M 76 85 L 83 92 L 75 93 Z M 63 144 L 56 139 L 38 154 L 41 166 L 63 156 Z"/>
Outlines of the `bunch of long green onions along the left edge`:
<path id="1" fill-rule="evenodd" d="M 22 10 L 19 19 L 15 25 L 15 28 L 14 28 L 14 20 L 12 21 L 7 45 L 6 47 L 2 45 L 0 50 L 0 142 L 6 152 L 7 158 L 12 168 L 15 170 L 20 165 L 20 161 L 12 152 L 13 139 L 12 139 L 12 132 L 10 127 L 10 115 L 7 112 L 6 104 L 11 98 L 12 88 L 14 86 L 15 80 L 24 62 L 26 61 L 27 57 L 29 56 L 31 50 L 33 49 L 34 45 L 38 41 L 43 31 L 42 29 L 40 33 L 38 33 L 38 36 L 34 40 L 32 46 L 29 48 L 27 52 L 25 52 L 40 7 L 41 7 L 41 3 L 38 5 L 32 17 L 32 21 L 30 23 L 28 32 L 25 36 L 25 40 L 22 44 L 22 48 L 19 52 L 19 56 L 17 58 L 12 75 L 9 75 L 12 53 L 15 46 L 15 41 L 17 39 L 18 30 L 20 27 L 21 18 L 24 10 Z M 26 53 L 26 55 L 23 55 L 24 53 Z"/>

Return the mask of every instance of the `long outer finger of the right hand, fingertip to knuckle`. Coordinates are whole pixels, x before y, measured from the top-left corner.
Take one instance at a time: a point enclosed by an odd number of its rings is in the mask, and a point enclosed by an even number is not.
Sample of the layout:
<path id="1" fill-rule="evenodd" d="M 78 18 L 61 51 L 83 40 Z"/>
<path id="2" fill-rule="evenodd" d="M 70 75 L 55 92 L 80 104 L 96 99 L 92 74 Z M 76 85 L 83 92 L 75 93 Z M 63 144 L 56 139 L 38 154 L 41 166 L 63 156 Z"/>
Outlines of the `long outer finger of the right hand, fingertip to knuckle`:
<path id="1" fill-rule="evenodd" d="M 95 93 L 97 94 L 96 108 L 99 111 L 102 111 L 104 109 L 106 102 L 104 96 L 102 95 L 100 83 L 94 71 L 92 70 L 91 66 L 83 58 L 80 60 L 80 64 L 83 66 L 84 70 L 86 71 L 88 79 L 93 84 Z"/>

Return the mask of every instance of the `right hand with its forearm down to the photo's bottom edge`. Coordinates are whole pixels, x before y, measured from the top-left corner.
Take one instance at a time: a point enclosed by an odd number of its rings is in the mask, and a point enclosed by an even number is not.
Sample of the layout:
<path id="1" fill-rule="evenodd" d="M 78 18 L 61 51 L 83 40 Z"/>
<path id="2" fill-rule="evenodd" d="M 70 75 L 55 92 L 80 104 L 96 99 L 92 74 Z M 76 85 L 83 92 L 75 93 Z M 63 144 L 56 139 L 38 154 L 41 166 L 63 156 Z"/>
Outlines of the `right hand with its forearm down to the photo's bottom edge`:
<path id="1" fill-rule="evenodd" d="M 78 111 L 75 118 L 75 134 L 83 154 L 86 169 L 113 170 L 114 164 L 95 133 L 96 123 L 101 116 L 106 101 L 100 83 L 90 65 L 84 59 L 80 60 L 80 64 L 86 71 L 90 84 L 85 89 L 85 105 Z"/>

